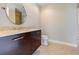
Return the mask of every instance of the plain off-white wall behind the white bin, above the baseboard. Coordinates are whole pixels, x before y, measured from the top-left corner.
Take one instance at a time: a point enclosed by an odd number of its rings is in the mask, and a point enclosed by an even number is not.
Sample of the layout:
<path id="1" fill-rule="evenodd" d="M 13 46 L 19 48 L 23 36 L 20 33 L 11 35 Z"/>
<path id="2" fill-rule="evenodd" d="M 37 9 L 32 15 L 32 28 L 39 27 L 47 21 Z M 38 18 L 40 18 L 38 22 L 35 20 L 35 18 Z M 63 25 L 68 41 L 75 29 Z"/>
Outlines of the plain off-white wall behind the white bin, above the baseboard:
<path id="1" fill-rule="evenodd" d="M 41 8 L 42 34 L 49 39 L 76 44 L 76 4 L 51 4 Z"/>

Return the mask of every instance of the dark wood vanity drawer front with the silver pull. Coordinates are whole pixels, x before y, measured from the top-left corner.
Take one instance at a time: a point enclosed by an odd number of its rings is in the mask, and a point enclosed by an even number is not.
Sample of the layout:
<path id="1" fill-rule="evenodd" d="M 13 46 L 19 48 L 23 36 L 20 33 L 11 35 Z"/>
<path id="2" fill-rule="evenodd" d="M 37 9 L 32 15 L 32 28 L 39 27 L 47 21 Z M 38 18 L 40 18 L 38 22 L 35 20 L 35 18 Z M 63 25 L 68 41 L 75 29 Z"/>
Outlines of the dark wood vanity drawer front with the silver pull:
<path id="1" fill-rule="evenodd" d="M 0 38 L 1 55 L 31 54 L 31 44 L 29 38 L 25 39 L 22 34 L 11 35 Z"/>

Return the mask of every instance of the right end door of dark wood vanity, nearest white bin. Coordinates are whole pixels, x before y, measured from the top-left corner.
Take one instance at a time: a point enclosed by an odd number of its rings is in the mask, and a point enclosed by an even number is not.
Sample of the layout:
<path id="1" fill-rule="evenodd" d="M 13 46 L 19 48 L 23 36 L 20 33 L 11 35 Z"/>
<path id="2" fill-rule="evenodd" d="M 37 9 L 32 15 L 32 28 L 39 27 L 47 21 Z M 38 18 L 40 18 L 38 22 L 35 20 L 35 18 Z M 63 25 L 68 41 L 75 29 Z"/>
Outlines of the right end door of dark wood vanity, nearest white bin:
<path id="1" fill-rule="evenodd" d="M 32 52 L 34 52 L 41 45 L 41 31 L 31 32 L 30 36 L 32 40 Z"/>

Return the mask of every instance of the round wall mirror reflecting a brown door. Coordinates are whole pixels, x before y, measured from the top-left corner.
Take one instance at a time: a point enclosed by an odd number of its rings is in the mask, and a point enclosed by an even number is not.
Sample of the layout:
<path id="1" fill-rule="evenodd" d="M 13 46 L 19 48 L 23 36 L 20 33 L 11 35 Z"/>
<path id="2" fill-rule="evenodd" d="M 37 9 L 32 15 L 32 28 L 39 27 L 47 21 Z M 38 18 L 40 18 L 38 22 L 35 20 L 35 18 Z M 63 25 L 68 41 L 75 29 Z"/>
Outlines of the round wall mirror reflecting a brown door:
<path id="1" fill-rule="evenodd" d="M 22 4 L 8 3 L 6 4 L 5 11 L 9 20 L 13 24 L 20 25 L 24 23 L 24 17 L 26 16 L 26 11 Z"/>

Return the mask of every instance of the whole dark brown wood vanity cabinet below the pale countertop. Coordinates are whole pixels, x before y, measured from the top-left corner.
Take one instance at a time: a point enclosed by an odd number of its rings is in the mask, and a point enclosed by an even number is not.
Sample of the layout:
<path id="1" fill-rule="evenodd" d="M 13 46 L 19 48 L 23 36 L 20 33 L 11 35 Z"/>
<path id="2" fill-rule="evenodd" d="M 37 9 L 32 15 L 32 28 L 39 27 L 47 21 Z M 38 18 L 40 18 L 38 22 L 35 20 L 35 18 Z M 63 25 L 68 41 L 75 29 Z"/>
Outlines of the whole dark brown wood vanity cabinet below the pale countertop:
<path id="1" fill-rule="evenodd" d="M 0 55 L 31 55 L 41 45 L 41 30 L 0 37 Z"/>

